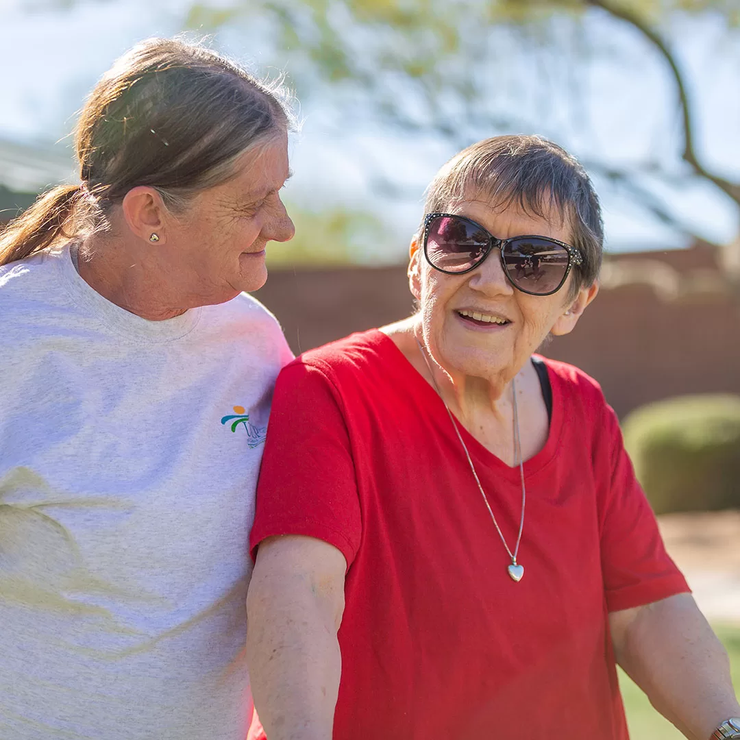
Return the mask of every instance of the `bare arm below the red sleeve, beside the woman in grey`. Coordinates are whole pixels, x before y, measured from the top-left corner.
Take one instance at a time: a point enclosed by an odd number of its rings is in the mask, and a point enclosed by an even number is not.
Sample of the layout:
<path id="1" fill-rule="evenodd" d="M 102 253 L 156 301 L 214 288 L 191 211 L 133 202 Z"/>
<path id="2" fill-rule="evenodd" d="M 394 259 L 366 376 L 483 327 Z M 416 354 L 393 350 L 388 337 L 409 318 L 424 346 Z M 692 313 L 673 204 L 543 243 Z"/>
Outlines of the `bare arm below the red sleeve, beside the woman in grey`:
<path id="1" fill-rule="evenodd" d="M 269 537 L 246 597 L 252 694 L 269 740 L 331 740 L 346 560 L 306 536 Z"/>

